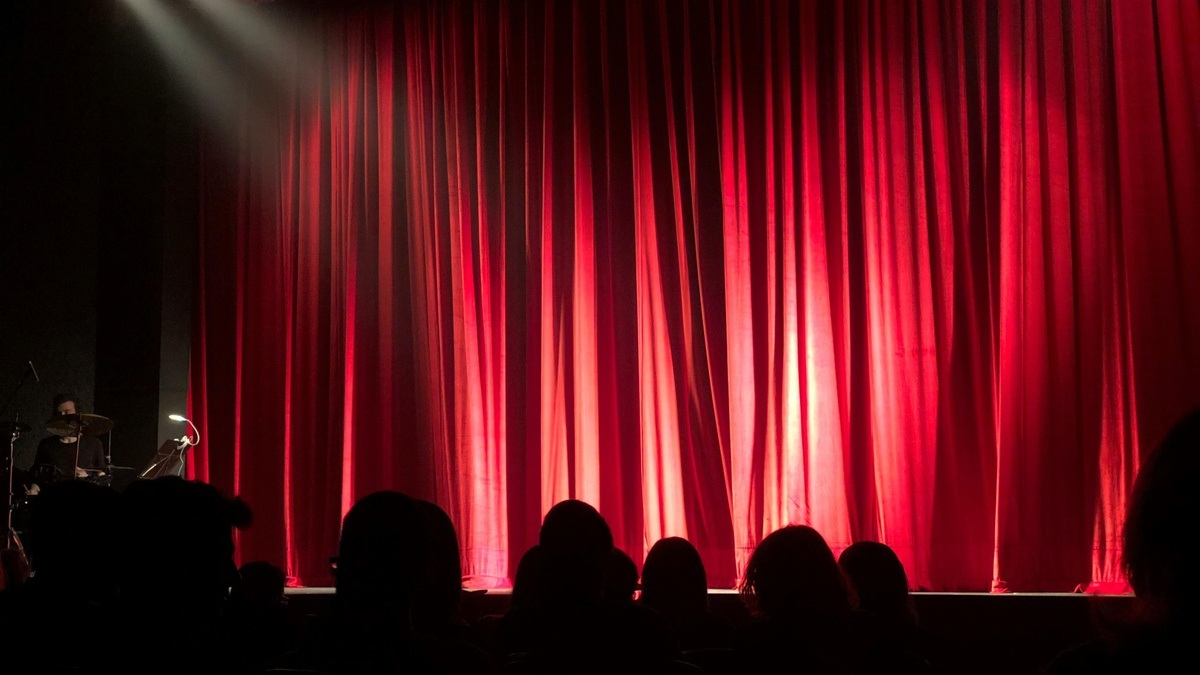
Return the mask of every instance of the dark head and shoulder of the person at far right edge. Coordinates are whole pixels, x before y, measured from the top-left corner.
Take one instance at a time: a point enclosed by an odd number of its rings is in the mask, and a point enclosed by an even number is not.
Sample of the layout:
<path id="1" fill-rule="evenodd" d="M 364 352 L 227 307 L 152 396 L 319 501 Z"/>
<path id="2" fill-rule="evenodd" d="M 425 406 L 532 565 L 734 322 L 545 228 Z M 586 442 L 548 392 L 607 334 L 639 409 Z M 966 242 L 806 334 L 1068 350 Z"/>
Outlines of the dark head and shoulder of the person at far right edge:
<path id="1" fill-rule="evenodd" d="M 1133 615 L 1064 650 L 1045 673 L 1187 673 L 1200 646 L 1200 410 L 1178 420 L 1142 460 L 1122 532 Z"/>

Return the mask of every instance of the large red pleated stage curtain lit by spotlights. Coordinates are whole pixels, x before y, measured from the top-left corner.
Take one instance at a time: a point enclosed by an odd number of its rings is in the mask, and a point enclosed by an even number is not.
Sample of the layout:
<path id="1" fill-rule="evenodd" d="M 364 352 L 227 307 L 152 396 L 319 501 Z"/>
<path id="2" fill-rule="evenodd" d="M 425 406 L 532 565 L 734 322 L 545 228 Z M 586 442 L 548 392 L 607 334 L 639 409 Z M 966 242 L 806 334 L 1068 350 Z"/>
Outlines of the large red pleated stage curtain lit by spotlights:
<path id="1" fill-rule="evenodd" d="M 329 584 L 391 488 L 478 586 L 568 497 L 714 586 L 788 522 L 925 589 L 1121 583 L 1200 404 L 1200 5 L 295 8 L 203 149 L 191 470 L 242 560 Z"/>

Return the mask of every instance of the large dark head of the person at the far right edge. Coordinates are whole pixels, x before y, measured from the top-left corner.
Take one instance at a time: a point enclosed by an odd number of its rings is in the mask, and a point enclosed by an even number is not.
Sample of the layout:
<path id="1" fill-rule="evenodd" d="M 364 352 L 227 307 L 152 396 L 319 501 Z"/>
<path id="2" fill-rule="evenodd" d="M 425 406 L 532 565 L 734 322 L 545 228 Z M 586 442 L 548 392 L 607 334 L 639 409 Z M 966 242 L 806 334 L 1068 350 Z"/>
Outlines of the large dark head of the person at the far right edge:
<path id="1" fill-rule="evenodd" d="M 1181 419 L 1142 460 L 1124 522 L 1123 561 L 1153 614 L 1194 616 L 1200 593 L 1200 410 Z"/>

